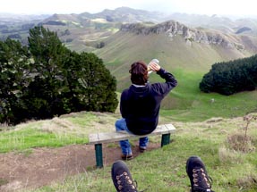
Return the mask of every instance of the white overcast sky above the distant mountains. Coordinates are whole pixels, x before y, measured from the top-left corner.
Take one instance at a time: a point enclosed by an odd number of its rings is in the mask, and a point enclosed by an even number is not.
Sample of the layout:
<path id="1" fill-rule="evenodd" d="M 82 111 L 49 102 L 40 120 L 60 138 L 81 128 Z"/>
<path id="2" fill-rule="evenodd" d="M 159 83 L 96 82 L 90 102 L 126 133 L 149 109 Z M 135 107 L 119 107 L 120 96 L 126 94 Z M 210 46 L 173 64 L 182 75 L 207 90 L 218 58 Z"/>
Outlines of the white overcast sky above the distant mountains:
<path id="1" fill-rule="evenodd" d="M 256 0 L 0 0 L 0 13 L 99 13 L 127 6 L 165 13 L 257 15 Z"/>

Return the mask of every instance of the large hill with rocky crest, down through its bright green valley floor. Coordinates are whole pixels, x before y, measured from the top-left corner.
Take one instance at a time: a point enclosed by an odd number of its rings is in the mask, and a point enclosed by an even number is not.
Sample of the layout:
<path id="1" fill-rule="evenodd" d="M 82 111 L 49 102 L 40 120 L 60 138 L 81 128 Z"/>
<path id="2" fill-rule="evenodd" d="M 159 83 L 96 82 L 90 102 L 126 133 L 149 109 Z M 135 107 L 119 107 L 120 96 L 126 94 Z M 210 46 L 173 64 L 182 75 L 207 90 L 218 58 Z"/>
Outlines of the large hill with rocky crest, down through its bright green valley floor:
<path id="1" fill-rule="evenodd" d="M 235 96 L 202 94 L 199 83 L 210 71 L 211 65 L 256 54 L 257 38 L 227 34 L 215 29 L 193 29 L 177 21 L 158 24 L 124 24 L 114 35 L 106 39 L 104 47 L 94 53 L 104 60 L 107 68 L 117 79 L 117 91 L 130 86 L 130 65 L 143 60 L 158 58 L 160 65 L 171 71 L 178 80 L 178 87 L 162 102 L 163 115 L 176 114 L 179 120 L 193 121 L 195 115 L 203 120 L 206 115 L 218 116 L 217 108 L 224 116 L 235 113 L 230 103 L 236 104 L 241 114 L 256 111 L 253 97 L 257 92 Z M 150 82 L 160 80 L 150 75 Z M 243 98 L 249 98 L 243 99 Z M 211 100 L 218 101 L 210 106 Z"/>

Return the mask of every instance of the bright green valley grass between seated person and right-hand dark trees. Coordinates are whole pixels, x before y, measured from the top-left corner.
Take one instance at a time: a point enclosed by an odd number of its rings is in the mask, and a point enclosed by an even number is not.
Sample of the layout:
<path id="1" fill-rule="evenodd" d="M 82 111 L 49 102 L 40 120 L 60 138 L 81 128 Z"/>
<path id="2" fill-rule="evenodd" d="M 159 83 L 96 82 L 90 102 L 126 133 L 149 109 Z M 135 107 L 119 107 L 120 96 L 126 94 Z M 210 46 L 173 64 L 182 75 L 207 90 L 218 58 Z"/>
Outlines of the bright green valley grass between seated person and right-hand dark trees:
<path id="1" fill-rule="evenodd" d="M 173 72 L 178 86 L 170 99 L 163 102 L 161 115 L 176 121 L 205 121 L 211 117 L 233 118 L 257 112 L 257 91 L 242 92 L 232 96 L 202 93 L 199 89 L 202 73 Z M 172 110 L 168 110 L 172 109 Z"/>

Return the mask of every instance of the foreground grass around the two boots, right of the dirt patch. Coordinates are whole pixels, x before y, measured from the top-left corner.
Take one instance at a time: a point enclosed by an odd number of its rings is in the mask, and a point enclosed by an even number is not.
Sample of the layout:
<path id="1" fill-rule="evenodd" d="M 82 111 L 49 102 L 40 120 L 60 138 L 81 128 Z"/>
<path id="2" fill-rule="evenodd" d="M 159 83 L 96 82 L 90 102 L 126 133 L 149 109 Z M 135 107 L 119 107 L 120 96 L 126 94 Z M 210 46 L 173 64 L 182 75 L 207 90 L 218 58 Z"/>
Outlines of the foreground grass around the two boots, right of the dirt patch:
<path id="1" fill-rule="evenodd" d="M 242 118 L 173 123 L 177 131 L 170 145 L 127 162 L 140 190 L 189 191 L 185 162 L 191 155 L 201 156 L 216 192 L 257 190 L 256 121 L 250 123 L 246 132 L 247 136 L 251 136 L 251 140 L 247 141 L 248 151 L 236 150 L 235 144 L 244 146 L 244 142 L 230 139 L 236 135 L 244 136 L 246 122 Z M 85 171 L 44 188 L 24 191 L 115 191 L 110 169 L 111 165 L 107 165 L 103 169 Z"/>

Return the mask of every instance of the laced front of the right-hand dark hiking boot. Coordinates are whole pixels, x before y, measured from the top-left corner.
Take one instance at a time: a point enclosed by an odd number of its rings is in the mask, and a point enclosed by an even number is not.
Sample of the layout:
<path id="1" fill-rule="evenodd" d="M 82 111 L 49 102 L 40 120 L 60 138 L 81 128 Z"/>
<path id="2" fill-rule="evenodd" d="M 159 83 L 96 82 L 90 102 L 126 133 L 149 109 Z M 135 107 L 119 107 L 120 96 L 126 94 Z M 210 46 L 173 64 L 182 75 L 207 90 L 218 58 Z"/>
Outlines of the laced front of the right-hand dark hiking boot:
<path id="1" fill-rule="evenodd" d="M 193 190 L 192 192 L 214 192 L 211 188 L 212 179 L 202 169 L 193 169 Z"/>

